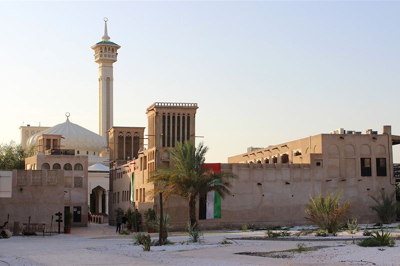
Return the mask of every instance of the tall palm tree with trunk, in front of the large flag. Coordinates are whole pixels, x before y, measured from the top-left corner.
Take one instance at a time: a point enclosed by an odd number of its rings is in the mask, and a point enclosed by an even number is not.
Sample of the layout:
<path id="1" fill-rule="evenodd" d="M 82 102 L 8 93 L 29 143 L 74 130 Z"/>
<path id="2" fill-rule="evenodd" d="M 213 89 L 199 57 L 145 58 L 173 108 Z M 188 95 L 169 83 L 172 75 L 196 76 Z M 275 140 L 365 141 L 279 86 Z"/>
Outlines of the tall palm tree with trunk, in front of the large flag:
<path id="1" fill-rule="evenodd" d="M 149 181 L 155 184 L 150 192 L 152 195 L 162 192 L 165 199 L 171 195 L 182 197 L 189 207 L 190 224 L 196 221 L 196 203 L 200 195 L 209 191 L 216 191 L 223 199 L 230 195 L 230 181 L 237 176 L 232 173 L 214 173 L 204 168 L 205 153 L 208 147 L 200 142 L 197 148 L 193 147 L 191 141 L 183 144 L 177 142 L 175 149 L 169 149 L 174 168 L 157 169 Z"/>

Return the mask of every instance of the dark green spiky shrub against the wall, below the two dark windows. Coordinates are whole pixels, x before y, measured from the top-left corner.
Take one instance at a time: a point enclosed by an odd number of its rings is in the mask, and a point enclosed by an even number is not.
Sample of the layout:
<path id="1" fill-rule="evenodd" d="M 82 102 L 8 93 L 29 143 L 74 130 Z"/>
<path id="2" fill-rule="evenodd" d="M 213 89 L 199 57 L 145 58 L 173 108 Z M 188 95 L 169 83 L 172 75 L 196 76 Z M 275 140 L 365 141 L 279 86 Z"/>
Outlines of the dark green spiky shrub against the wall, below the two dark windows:
<path id="1" fill-rule="evenodd" d="M 397 216 L 397 204 L 394 198 L 394 192 L 390 196 L 387 196 L 384 190 L 380 190 L 380 196 L 382 197 L 382 203 L 375 197 L 369 195 L 369 197 L 376 202 L 376 205 L 370 208 L 376 212 L 382 224 L 391 224 L 391 221 Z"/>

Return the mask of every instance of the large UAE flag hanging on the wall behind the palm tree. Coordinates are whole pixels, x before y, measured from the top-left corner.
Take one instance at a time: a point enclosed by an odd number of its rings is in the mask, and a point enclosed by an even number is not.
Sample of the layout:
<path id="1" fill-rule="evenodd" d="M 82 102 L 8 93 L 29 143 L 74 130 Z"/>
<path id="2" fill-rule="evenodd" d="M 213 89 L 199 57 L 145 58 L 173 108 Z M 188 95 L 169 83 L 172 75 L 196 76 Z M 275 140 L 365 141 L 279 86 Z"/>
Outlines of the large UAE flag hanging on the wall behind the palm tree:
<path id="1" fill-rule="evenodd" d="M 208 168 L 214 173 L 221 171 L 221 164 L 204 164 L 203 168 Z M 215 180 L 217 183 L 218 180 Z M 216 191 L 210 191 L 202 195 L 199 200 L 199 220 L 220 219 L 221 218 L 221 196 Z"/>

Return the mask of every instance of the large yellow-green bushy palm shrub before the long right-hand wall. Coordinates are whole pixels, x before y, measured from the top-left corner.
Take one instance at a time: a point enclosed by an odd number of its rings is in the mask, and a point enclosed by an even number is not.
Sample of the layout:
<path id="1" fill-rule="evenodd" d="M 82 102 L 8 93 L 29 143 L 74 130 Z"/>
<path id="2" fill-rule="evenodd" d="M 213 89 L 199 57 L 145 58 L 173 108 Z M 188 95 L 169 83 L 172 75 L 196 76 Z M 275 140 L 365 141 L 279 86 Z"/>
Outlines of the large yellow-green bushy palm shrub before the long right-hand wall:
<path id="1" fill-rule="evenodd" d="M 335 197 L 331 193 L 326 193 L 323 197 L 318 194 L 316 198 L 309 197 L 309 204 L 305 205 L 305 213 L 309 216 L 308 220 L 328 231 L 328 234 L 336 235 L 344 215 L 350 209 L 350 203 L 346 201 L 339 203 L 341 191 Z"/>

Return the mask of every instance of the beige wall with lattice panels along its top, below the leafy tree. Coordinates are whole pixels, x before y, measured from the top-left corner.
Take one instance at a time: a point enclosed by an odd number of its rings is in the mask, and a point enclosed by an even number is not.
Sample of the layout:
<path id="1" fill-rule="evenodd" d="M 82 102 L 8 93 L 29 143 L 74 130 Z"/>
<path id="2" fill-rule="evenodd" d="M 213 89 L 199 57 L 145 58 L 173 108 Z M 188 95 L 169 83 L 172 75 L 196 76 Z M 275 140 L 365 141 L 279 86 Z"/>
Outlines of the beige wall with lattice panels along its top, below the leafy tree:
<path id="1" fill-rule="evenodd" d="M 63 170 L 12 170 L 11 198 L 0 198 L 0 223 L 44 223 L 50 227 L 51 216 L 64 212 Z M 53 227 L 56 227 L 54 216 Z M 61 224 L 63 228 L 63 224 Z"/>

